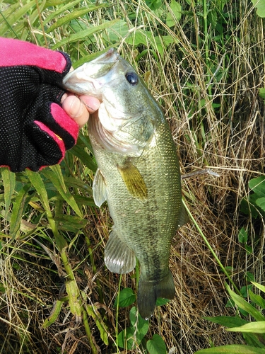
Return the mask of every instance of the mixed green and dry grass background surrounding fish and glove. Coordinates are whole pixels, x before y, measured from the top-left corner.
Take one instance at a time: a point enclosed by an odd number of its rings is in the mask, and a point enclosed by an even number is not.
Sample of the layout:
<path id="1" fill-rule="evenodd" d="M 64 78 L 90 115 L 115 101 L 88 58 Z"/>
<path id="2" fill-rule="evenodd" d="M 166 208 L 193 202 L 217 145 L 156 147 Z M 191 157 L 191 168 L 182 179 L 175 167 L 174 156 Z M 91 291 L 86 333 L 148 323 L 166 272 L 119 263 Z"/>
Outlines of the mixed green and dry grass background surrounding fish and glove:
<path id="1" fill-rule="evenodd" d="M 249 273 L 264 283 L 264 219 L 241 208 L 249 180 L 265 173 L 264 20 L 250 1 L 177 4 L 180 15 L 175 1 L 0 3 L 0 35 L 69 52 L 75 67 L 119 47 L 163 106 L 182 173 L 207 166 L 220 174 L 182 181 L 220 263 L 194 223 L 179 230 L 170 257 L 177 294 L 156 308 L 134 353 L 147 353 L 144 341 L 154 334 L 179 354 L 244 343 L 204 319 L 235 314 L 220 264 L 239 290 Z M 95 161 L 86 135 L 85 128 L 60 168 L 1 170 L 0 353 L 129 353 L 117 335 L 131 326 L 131 305 L 117 311 L 114 300 L 119 281 L 136 291 L 137 276 L 119 278 L 103 264 L 112 221 L 91 199 Z"/>

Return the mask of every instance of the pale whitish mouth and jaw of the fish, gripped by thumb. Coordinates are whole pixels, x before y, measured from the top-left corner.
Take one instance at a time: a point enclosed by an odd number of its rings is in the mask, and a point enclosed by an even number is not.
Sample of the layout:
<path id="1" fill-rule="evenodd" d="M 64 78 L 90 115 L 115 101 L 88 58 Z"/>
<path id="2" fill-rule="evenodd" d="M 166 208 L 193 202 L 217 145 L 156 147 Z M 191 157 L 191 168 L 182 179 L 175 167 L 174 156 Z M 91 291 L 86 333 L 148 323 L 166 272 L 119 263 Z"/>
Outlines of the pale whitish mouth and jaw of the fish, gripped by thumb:
<path id="1" fill-rule="evenodd" d="M 102 98 L 102 86 L 110 81 L 110 74 L 119 62 L 119 54 L 111 48 L 91 62 L 85 63 L 64 76 L 64 89 L 78 95 L 91 95 Z"/>

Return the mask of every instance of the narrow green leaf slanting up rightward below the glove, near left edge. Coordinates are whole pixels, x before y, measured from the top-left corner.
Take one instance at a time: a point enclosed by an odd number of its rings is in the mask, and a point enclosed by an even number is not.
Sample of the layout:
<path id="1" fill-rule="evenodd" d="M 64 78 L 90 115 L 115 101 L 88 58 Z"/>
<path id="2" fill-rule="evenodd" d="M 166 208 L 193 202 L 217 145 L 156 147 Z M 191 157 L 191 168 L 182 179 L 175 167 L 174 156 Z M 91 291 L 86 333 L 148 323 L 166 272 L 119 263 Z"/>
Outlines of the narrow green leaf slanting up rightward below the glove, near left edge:
<path id="1" fill-rule="evenodd" d="M 19 232 L 23 212 L 33 196 L 28 195 L 30 188 L 31 184 L 28 183 L 22 189 L 20 189 L 18 195 L 16 196 L 16 202 L 13 203 L 13 210 L 10 219 L 10 234 L 12 240 L 16 238 Z"/>

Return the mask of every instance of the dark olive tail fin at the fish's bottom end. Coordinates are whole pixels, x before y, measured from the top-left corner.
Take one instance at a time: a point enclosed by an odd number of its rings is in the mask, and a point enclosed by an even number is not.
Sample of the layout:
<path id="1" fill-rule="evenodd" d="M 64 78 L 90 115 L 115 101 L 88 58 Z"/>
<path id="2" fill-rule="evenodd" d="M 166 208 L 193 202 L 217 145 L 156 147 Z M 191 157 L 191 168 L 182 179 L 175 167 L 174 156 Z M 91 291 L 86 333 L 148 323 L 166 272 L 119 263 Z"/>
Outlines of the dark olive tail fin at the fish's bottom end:
<path id="1" fill-rule="evenodd" d="M 170 271 L 160 282 L 140 278 L 137 299 L 139 313 L 143 319 L 149 319 L 155 310 L 155 302 L 158 297 L 174 299 L 174 296 L 175 285 Z"/>

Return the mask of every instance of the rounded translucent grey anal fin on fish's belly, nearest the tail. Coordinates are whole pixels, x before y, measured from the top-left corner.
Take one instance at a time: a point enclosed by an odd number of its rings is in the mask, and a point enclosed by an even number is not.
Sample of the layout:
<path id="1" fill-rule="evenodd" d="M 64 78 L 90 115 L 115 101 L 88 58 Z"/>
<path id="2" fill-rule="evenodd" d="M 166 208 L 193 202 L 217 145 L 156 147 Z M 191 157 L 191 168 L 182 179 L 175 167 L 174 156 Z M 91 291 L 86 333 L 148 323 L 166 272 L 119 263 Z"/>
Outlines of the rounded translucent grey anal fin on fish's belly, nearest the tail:
<path id="1" fill-rule="evenodd" d="M 122 241 L 115 229 L 112 230 L 107 241 L 104 261 L 112 273 L 129 273 L 136 266 L 134 252 Z"/>

